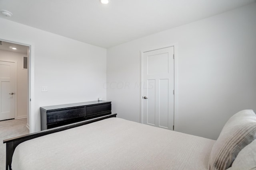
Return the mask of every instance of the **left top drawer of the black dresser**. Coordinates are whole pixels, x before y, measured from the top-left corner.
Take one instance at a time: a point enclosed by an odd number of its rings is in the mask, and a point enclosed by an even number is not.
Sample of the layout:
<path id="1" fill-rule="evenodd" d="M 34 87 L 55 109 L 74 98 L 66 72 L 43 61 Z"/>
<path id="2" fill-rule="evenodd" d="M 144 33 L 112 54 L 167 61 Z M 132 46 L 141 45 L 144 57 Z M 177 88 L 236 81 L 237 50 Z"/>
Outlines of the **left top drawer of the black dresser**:
<path id="1" fill-rule="evenodd" d="M 84 106 L 47 112 L 47 124 L 55 123 L 58 121 L 65 121 L 69 119 L 75 119 L 78 117 L 85 117 Z"/>

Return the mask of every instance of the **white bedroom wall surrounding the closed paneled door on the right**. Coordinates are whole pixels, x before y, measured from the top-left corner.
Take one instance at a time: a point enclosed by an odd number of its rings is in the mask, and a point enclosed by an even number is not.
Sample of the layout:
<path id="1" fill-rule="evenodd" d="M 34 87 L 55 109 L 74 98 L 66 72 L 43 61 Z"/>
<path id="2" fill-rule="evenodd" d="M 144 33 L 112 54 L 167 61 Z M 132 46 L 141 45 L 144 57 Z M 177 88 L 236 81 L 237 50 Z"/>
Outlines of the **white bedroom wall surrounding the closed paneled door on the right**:
<path id="1" fill-rule="evenodd" d="M 254 3 L 108 49 L 106 88 L 113 113 L 140 122 L 140 50 L 173 43 L 175 131 L 217 139 L 231 115 L 256 111 Z"/>

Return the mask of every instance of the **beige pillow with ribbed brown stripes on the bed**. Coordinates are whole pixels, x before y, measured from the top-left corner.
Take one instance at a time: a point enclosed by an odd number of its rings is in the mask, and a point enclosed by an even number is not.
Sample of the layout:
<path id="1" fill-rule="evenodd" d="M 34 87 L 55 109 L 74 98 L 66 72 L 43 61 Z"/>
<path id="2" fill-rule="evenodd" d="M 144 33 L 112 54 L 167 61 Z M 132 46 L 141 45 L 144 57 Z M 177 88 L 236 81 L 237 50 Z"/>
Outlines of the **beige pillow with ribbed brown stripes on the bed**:
<path id="1" fill-rule="evenodd" d="M 242 110 L 230 117 L 212 147 L 210 169 L 224 170 L 246 145 L 256 139 L 256 115 L 253 110 Z"/>

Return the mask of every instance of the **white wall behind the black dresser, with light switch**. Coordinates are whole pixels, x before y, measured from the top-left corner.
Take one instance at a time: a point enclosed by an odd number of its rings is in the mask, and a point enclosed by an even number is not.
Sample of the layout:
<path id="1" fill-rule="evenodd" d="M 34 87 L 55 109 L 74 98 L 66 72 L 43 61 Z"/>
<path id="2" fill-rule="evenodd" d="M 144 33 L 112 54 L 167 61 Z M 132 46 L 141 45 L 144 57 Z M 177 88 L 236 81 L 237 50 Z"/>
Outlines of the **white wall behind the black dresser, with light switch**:
<path id="1" fill-rule="evenodd" d="M 0 39 L 32 45 L 32 132 L 40 130 L 41 106 L 106 100 L 106 49 L 4 19 L 0 25 Z"/>

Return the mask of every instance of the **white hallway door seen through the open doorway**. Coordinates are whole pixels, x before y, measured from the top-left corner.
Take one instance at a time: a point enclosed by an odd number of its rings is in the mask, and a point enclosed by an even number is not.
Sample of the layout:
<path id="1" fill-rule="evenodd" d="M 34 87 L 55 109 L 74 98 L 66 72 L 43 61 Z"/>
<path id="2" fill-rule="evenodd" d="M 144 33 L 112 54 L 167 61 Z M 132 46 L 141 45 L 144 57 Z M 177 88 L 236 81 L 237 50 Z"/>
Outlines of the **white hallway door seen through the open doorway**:
<path id="1" fill-rule="evenodd" d="M 16 64 L 0 61 L 0 120 L 15 117 Z"/>

